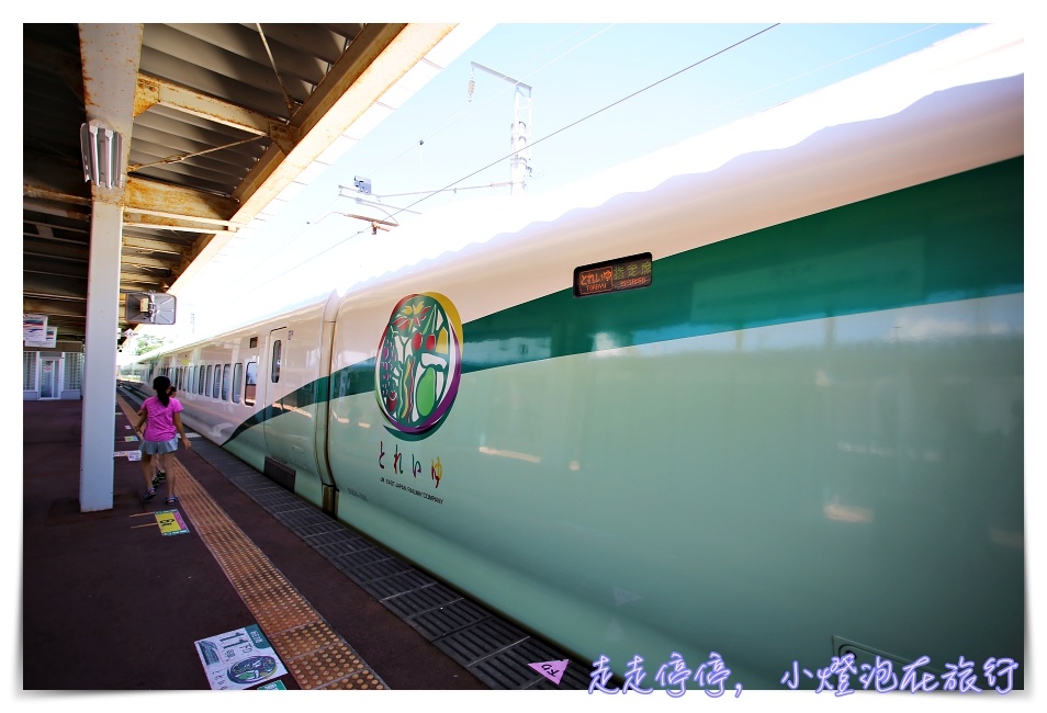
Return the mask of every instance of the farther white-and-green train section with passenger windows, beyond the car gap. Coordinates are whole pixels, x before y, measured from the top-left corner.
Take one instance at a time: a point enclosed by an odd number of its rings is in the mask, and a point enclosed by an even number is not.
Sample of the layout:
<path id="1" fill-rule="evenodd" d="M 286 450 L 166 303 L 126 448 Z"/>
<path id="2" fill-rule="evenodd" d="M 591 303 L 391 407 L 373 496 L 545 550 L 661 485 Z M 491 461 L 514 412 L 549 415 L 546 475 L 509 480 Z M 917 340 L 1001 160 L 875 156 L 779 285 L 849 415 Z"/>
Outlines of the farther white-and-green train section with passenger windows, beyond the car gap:
<path id="1" fill-rule="evenodd" d="M 145 385 L 159 374 L 170 377 L 190 427 L 333 511 L 324 389 L 337 307 L 337 295 L 324 295 L 126 367 L 127 376 L 134 372 Z"/>

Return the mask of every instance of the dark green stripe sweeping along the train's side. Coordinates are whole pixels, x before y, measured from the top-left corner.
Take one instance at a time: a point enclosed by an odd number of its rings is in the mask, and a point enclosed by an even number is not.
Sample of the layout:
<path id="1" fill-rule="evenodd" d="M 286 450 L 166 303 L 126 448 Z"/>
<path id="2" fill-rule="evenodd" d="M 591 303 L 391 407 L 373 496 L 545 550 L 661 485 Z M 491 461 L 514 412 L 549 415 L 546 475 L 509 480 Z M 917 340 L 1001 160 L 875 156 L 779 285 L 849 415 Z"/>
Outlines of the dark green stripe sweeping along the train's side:
<path id="1" fill-rule="evenodd" d="M 567 288 L 466 322 L 462 373 L 608 346 L 1022 292 L 1024 157 L 668 256 L 655 260 L 653 272 L 651 286 L 641 290 L 578 298 Z M 570 315 L 570 326 L 558 315 Z M 547 348 L 500 348 L 531 336 Z M 312 404 L 373 389 L 372 358 L 284 400 Z M 229 440 L 282 412 L 279 404 L 266 408 Z"/>

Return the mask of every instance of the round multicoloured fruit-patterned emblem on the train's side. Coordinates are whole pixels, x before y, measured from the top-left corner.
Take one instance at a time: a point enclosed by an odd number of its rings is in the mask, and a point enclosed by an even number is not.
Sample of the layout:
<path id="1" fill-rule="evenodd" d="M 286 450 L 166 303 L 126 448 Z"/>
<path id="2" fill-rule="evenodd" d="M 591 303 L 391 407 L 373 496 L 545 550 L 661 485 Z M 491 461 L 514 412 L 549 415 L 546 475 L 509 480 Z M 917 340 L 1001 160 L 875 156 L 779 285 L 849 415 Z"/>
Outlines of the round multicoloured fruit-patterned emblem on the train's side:
<path id="1" fill-rule="evenodd" d="M 462 320 L 435 292 L 407 295 L 379 341 L 374 397 L 393 428 L 410 434 L 447 416 L 462 378 Z"/>

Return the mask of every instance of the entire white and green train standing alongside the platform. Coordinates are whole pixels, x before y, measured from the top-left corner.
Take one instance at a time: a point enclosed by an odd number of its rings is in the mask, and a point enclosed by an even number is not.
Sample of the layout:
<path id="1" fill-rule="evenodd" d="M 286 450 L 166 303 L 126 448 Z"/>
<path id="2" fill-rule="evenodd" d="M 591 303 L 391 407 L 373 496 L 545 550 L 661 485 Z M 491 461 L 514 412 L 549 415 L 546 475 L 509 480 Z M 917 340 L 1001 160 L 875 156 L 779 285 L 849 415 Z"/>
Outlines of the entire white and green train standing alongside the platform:
<path id="1" fill-rule="evenodd" d="M 209 438 L 644 686 L 1021 686 L 1021 52 L 980 29 L 418 219 L 410 267 L 157 365 Z"/>

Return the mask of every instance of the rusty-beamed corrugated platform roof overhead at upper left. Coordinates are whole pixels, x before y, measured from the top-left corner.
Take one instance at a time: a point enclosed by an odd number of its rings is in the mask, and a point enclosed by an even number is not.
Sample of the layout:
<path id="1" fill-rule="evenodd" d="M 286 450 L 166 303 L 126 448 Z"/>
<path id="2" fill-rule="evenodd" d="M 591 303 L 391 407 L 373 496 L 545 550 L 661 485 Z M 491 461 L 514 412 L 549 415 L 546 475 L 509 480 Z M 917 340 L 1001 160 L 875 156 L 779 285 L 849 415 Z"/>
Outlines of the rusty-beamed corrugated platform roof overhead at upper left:
<path id="1" fill-rule="evenodd" d="M 109 49 L 97 33 L 23 25 L 22 307 L 47 315 L 63 342 L 86 333 L 87 106 L 104 110 L 113 89 L 134 94 L 132 131 L 122 137 L 130 149 L 121 186 L 124 332 L 134 326 L 124 318 L 126 294 L 166 293 L 199 270 L 281 192 L 354 143 L 369 109 L 395 109 L 413 83 L 464 48 L 449 39 L 453 24 L 103 27 L 140 37 L 124 87 L 103 88 L 85 73 L 82 58 Z"/>

